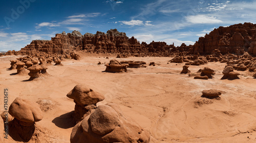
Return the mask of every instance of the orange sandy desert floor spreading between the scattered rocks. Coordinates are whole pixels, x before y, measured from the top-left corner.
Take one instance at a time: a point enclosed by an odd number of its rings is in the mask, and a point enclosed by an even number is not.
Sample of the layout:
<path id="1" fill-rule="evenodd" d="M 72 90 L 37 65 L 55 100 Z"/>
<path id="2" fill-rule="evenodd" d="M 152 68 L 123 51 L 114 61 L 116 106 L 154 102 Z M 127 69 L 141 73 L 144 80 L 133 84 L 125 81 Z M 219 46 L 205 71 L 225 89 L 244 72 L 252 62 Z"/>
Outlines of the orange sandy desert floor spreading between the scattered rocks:
<path id="1" fill-rule="evenodd" d="M 116 59 L 106 55 L 83 55 L 80 61 L 64 60 L 63 66 L 49 66 L 52 75 L 26 81 L 29 75 L 12 75 L 7 70 L 16 56 L 0 58 L 0 109 L 4 89 L 9 105 L 16 97 L 46 103 L 44 119 L 37 122 L 41 142 L 70 142 L 75 103 L 66 95 L 78 83 L 105 96 L 99 104 L 118 104 L 126 115 L 150 132 L 151 142 L 256 142 L 256 79 L 253 73 L 238 71 L 241 79 L 221 80 L 225 63 L 189 66 L 191 75 L 204 67 L 216 70 L 213 79 L 194 79 L 180 74 L 184 63 L 172 58 L 125 58 L 144 61 L 146 68 L 127 68 L 127 73 L 106 73 L 104 64 Z M 156 66 L 148 66 L 155 62 Z M 218 89 L 217 99 L 201 97 L 203 90 Z M 38 141 L 38 140 L 37 140 Z M 11 141 L 10 141 L 11 142 Z M 40 142 L 40 141 L 39 141 Z"/>

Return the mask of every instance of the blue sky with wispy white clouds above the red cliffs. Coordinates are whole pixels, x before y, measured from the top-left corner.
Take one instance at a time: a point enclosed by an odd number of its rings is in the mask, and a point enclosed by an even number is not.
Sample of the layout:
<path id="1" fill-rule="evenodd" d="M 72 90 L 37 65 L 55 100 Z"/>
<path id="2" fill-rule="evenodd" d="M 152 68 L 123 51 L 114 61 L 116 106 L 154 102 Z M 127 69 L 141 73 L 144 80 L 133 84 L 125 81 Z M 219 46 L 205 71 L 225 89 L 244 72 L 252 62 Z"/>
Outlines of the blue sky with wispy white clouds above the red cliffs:
<path id="1" fill-rule="evenodd" d="M 117 28 L 147 44 L 194 44 L 219 26 L 256 23 L 256 0 L 248 1 L 83 1 L 9 0 L 0 2 L 0 51 L 19 50 L 56 33 L 106 32 Z"/>

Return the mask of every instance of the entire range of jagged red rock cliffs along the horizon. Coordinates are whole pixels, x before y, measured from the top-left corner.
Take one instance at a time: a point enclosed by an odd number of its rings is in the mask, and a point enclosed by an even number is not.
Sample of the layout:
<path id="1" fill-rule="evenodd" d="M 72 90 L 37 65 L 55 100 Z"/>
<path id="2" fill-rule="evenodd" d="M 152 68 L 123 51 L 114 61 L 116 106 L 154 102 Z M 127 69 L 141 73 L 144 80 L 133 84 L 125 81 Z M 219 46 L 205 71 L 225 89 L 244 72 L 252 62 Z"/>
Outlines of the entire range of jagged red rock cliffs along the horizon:
<path id="1" fill-rule="evenodd" d="M 165 42 L 139 42 L 136 38 L 129 38 L 125 33 L 116 29 L 106 33 L 86 33 L 82 35 L 78 31 L 66 34 L 56 34 L 51 40 L 33 40 L 29 45 L 19 51 L 8 51 L 9 54 L 66 54 L 71 51 L 83 50 L 95 53 L 129 53 L 135 56 L 169 56 L 172 52 L 185 54 L 211 54 L 218 49 L 219 54 L 248 52 L 256 56 L 256 24 L 240 23 L 228 27 L 220 26 L 214 31 L 200 37 L 194 45 L 175 47 Z M 151 53 L 151 54 L 150 54 Z"/>

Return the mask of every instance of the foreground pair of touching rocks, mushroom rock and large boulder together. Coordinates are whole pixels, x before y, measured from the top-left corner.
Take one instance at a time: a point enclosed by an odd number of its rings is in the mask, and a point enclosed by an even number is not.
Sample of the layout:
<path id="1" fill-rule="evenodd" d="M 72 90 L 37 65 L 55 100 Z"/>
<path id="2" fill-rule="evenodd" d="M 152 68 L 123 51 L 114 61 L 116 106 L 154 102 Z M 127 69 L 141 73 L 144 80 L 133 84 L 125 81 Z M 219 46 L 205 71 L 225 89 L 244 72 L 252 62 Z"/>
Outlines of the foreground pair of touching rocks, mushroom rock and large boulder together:
<path id="1" fill-rule="evenodd" d="M 97 106 L 104 96 L 78 84 L 67 96 L 74 99 L 74 119 L 70 142 L 149 142 L 150 134 L 114 103 Z"/>

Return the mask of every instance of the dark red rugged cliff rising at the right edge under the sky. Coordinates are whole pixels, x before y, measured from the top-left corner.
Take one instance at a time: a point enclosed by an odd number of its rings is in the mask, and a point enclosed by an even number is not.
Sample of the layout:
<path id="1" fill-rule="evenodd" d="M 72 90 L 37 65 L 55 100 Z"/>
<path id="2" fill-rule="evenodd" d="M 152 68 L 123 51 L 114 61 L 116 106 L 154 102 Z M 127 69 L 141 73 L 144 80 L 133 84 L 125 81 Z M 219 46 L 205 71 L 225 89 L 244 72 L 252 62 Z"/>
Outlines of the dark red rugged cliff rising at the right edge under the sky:
<path id="1" fill-rule="evenodd" d="M 192 46 L 194 53 L 210 54 L 211 51 L 218 49 L 220 53 L 243 54 L 244 51 L 256 55 L 255 36 L 256 24 L 240 23 L 228 27 L 220 26 L 214 31 L 200 37 Z"/>

